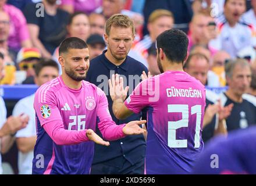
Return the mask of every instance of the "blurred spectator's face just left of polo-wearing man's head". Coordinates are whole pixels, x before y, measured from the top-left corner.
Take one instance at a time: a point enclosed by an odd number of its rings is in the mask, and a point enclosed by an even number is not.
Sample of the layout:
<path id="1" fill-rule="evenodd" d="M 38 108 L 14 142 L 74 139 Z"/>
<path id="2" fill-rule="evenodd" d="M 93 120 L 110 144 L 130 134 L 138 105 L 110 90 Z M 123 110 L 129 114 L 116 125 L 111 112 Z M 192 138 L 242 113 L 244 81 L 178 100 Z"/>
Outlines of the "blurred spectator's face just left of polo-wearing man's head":
<path id="1" fill-rule="evenodd" d="M 104 35 L 105 32 L 105 17 L 96 13 L 91 13 L 89 16 L 91 34 Z"/>

